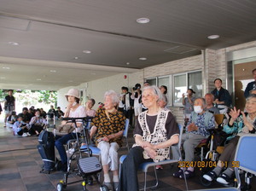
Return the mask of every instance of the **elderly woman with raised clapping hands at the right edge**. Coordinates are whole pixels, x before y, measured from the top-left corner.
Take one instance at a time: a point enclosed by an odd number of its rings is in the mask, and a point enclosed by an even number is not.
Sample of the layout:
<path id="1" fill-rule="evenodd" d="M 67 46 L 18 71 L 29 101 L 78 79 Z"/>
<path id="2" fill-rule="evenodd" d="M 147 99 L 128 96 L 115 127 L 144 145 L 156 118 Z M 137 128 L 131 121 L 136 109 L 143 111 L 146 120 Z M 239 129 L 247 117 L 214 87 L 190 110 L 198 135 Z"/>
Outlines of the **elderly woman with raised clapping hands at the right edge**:
<path id="1" fill-rule="evenodd" d="M 238 165 L 236 161 L 234 161 L 234 158 L 236 153 L 236 145 L 239 141 L 240 136 L 248 133 L 255 133 L 256 131 L 256 95 L 251 95 L 247 97 L 246 111 L 247 113 L 243 113 L 240 111 L 240 109 L 236 110 L 236 107 L 234 107 L 234 109 L 231 109 L 231 118 L 229 124 L 224 126 L 224 129 L 235 129 L 237 131 L 237 135 L 231 139 L 229 144 L 225 146 L 224 152 L 218 159 L 218 164 L 216 168 L 214 168 L 212 171 L 209 171 L 203 176 L 205 179 L 207 179 L 207 181 L 212 181 L 213 179 L 218 177 L 217 182 L 229 184 L 230 177 L 234 173 L 234 167 Z M 223 173 L 221 173 L 224 167 L 227 167 L 227 169 Z"/>

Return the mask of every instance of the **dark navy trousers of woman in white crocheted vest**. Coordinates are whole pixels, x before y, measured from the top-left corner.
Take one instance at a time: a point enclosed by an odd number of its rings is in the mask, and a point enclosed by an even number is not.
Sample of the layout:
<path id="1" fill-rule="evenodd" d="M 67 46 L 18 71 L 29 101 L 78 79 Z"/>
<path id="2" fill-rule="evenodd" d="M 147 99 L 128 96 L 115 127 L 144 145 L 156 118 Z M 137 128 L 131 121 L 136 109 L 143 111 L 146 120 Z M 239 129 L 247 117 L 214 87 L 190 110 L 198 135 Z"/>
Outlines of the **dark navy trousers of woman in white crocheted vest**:
<path id="1" fill-rule="evenodd" d="M 120 170 L 119 191 L 136 191 L 139 190 L 137 180 L 137 170 L 143 162 L 153 161 L 152 159 L 143 158 L 143 148 L 131 148 Z"/>

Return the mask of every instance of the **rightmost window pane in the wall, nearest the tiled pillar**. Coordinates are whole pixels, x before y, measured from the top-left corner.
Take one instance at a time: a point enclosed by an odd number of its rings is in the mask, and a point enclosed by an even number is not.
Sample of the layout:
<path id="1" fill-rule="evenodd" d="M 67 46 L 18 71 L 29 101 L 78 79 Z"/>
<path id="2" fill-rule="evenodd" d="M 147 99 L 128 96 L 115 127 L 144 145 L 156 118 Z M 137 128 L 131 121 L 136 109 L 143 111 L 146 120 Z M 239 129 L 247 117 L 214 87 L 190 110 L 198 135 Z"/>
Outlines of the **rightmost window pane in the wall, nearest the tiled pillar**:
<path id="1" fill-rule="evenodd" d="M 195 97 L 202 97 L 201 71 L 188 73 L 188 87 L 195 91 Z"/>

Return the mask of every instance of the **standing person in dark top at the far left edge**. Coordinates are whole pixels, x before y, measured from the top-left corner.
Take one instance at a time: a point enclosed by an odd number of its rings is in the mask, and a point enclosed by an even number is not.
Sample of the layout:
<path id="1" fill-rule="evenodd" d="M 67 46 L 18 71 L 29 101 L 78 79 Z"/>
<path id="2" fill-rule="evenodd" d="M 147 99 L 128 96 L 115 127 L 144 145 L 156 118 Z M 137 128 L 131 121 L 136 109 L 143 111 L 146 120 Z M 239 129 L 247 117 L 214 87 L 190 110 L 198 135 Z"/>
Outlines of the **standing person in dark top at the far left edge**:
<path id="1" fill-rule="evenodd" d="M 13 96 L 13 90 L 8 90 L 8 96 L 5 96 L 4 101 L 4 110 L 5 110 L 5 118 L 4 118 L 4 126 L 6 127 L 7 118 L 13 111 L 15 111 L 15 97 Z"/>

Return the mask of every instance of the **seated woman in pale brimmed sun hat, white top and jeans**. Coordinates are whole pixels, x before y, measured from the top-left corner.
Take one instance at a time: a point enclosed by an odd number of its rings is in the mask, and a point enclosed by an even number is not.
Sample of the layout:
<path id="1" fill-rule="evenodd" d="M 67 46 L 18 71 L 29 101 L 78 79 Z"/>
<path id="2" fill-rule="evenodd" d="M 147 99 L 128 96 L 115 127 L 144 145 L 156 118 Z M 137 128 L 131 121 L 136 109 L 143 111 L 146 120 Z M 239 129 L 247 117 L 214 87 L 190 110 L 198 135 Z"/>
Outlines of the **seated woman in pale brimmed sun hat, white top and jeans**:
<path id="1" fill-rule="evenodd" d="M 84 118 L 86 117 L 85 108 L 79 104 L 79 90 L 78 89 L 70 89 L 65 95 L 68 101 L 67 108 L 65 111 L 64 118 Z M 66 121 L 62 121 L 61 124 L 66 124 Z M 74 124 L 73 124 L 74 125 Z M 56 137 L 55 147 L 60 153 L 61 163 L 62 163 L 62 171 L 67 171 L 67 153 L 64 148 L 64 144 L 66 144 L 69 140 L 76 138 L 76 130 L 78 133 L 82 130 L 80 126 L 82 123 L 77 123 L 78 128 L 73 130 L 73 132 L 65 135 Z"/>

